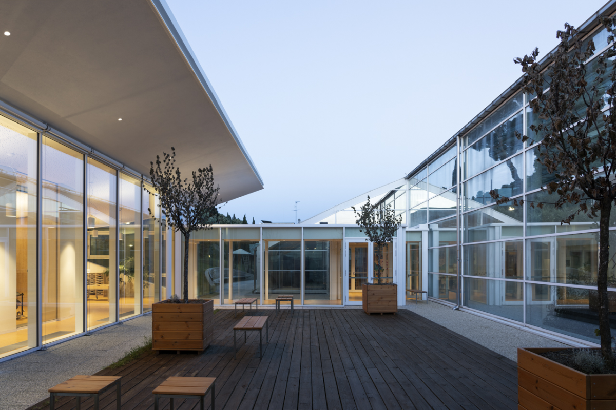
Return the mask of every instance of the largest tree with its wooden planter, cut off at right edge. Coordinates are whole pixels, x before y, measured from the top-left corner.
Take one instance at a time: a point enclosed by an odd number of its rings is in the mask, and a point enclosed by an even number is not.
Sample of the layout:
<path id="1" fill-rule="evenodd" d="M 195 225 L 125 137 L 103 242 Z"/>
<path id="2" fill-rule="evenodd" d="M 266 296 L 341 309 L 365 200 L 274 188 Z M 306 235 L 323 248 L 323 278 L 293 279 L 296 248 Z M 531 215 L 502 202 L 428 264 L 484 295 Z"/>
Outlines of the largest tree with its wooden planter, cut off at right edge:
<path id="1" fill-rule="evenodd" d="M 607 290 L 610 213 L 616 200 L 616 18 L 599 21 L 606 45 L 612 44 L 601 55 L 594 56 L 593 39 L 565 24 L 564 31 L 557 32 L 560 43 L 547 67 L 538 60 L 538 49 L 514 60 L 522 66 L 522 89 L 532 98 L 529 104 L 537 119 L 530 125 L 533 138 L 519 132 L 516 136 L 536 144 L 537 162 L 548 179 L 543 189 L 556 194 L 549 205 L 567 210 L 569 216 L 561 224 L 570 224 L 580 214 L 599 219 L 599 263 L 586 283 L 596 285 L 588 290 L 588 310 L 598 312 L 595 334 L 601 349 L 518 349 L 520 409 L 616 409 Z M 490 195 L 500 204 L 511 200 L 495 191 Z M 523 203 L 513 200 L 514 205 Z M 533 208 L 544 205 L 530 202 Z"/>

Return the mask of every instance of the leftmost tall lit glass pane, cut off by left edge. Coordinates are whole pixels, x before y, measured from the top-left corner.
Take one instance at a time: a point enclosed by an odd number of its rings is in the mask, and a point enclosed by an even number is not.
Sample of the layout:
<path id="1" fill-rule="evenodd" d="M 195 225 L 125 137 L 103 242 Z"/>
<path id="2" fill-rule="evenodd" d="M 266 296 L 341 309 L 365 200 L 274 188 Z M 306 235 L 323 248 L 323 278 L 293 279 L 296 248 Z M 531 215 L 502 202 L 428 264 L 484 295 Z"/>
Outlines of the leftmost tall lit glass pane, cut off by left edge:
<path id="1" fill-rule="evenodd" d="M 0 117 L 0 358 L 38 344 L 37 141 Z"/>

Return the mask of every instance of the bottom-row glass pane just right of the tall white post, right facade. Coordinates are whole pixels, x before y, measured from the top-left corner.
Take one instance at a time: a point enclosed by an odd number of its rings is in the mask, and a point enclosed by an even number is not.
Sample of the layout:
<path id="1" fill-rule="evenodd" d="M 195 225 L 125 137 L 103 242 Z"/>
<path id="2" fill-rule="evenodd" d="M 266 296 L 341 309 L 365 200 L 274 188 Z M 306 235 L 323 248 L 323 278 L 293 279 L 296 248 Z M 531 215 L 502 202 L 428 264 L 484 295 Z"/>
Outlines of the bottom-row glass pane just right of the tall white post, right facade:
<path id="1" fill-rule="evenodd" d="M 524 320 L 524 283 L 478 278 L 463 280 L 464 306 L 511 320 Z"/>

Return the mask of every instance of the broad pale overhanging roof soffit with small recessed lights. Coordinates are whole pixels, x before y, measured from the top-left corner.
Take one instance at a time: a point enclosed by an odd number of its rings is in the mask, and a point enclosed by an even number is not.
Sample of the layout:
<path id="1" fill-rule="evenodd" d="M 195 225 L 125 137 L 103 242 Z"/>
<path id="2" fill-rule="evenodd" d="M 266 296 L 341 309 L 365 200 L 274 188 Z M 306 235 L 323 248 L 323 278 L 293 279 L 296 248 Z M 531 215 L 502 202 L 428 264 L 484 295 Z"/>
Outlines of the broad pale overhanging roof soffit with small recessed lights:
<path id="1" fill-rule="evenodd" d="M 262 189 L 164 0 L 2 2 L 4 31 L 0 100 L 146 176 L 174 146 L 224 201 Z"/>

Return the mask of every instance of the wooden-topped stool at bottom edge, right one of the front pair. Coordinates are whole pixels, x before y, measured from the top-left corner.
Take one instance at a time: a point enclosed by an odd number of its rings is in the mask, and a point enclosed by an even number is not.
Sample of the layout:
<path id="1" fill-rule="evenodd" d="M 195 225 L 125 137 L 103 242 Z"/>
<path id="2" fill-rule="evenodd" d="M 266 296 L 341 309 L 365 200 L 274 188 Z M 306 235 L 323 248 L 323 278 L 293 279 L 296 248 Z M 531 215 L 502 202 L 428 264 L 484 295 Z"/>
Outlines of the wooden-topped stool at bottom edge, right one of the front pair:
<path id="1" fill-rule="evenodd" d="M 169 410 L 173 410 L 174 398 L 199 397 L 200 409 L 205 410 L 205 395 L 212 390 L 212 410 L 214 410 L 214 387 L 216 377 L 178 377 L 172 376 L 164 380 L 154 389 L 154 410 L 158 410 L 158 400 L 169 398 Z"/>

